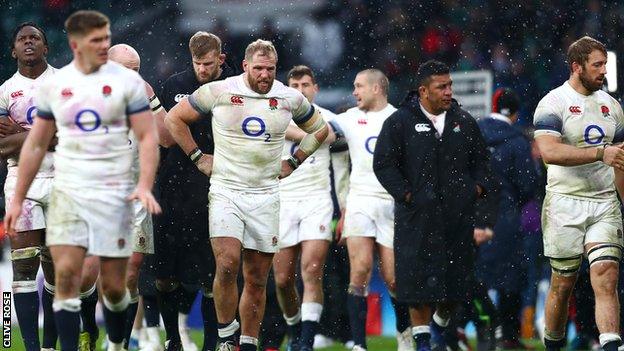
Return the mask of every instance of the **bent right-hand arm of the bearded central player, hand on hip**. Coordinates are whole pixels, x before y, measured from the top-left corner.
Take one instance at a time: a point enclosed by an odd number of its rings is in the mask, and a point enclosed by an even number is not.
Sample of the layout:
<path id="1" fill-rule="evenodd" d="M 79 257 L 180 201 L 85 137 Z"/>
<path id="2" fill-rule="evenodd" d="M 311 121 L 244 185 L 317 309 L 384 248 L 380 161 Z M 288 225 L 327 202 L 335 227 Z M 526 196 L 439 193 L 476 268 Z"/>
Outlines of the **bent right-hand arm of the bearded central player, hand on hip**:
<path id="1" fill-rule="evenodd" d="M 289 159 L 282 161 L 280 178 L 288 177 L 299 164 L 305 161 L 308 156 L 312 155 L 314 151 L 321 146 L 329 134 L 329 126 L 323 120 L 318 110 L 314 110 L 312 117 L 298 126 L 306 133 L 306 135 L 301 139 L 299 149 L 297 149 L 295 154 L 292 156 L 294 160 Z M 293 161 L 297 164 L 291 164 Z"/>

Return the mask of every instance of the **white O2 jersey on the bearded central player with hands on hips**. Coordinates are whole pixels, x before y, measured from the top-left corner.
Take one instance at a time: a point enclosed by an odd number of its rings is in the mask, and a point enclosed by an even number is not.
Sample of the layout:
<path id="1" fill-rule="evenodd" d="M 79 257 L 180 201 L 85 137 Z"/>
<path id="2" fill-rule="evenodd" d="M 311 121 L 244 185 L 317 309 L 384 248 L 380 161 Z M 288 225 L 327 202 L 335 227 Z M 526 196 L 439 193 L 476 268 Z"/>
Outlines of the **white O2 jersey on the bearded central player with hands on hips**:
<path id="1" fill-rule="evenodd" d="M 211 184 L 245 191 L 279 187 L 286 128 L 314 113 L 296 89 L 276 80 L 271 91 L 258 94 L 245 85 L 243 74 L 202 85 L 189 103 L 200 113 L 212 112 Z"/>

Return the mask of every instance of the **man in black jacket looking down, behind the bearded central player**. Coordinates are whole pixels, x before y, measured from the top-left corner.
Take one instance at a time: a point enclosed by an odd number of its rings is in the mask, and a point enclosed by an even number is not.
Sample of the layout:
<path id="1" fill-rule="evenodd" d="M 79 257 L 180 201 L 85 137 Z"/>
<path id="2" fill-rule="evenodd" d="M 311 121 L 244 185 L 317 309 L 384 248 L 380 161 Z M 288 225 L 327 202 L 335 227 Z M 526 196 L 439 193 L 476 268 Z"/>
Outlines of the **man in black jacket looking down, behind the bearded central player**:
<path id="1" fill-rule="evenodd" d="M 189 41 L 193 67 L 169 77 L 160 98 L 169 110 L 201 85 L 225 79 L 236 72 L 225 63 L 221 40 L 214 34 L 197 32 Z M 191 126 L 199 148 L 212 154 L 214 143 L 209 118 Z M 161 141 L 163 143 L 164 141 Z M 170 145 L 174 143 L 169 140 Z M 162 150 L 156 179 L 157 191 L 163 205 L 163 215 L 155 219 L 156 288 L 169 343 L 167 349 L 193 349 L 187 333 L 186 318 L 202 285 L 202 315 L 204 347 L 212 350 L 216 344 L 217 322 L 212 299 L 212 279 L 215 263 L 208 236 L 209 179 L 201 173 L 177 145 Z M 178 317 L 178 312 L 180 312 Z M 178 323 L 180 322 L 180 323 Z M 186 335 L 185 335 L 186 334 Z M 181 345 L 182 344 L 185 345 Z"/>

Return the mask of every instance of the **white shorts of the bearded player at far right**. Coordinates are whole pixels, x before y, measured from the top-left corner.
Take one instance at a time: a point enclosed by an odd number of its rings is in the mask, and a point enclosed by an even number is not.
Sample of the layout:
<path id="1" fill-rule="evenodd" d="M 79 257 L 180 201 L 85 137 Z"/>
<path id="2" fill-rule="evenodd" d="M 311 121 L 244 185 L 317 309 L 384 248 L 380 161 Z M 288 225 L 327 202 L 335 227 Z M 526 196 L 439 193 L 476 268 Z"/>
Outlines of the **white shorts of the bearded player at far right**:
<path id="1" fill-rule="evenodd" d="M 598 202 L 546 193 L 542 208 L 544 256 L 582 255 L 588 243 L 622 247 L 622 213 L 617 200 Z"/>

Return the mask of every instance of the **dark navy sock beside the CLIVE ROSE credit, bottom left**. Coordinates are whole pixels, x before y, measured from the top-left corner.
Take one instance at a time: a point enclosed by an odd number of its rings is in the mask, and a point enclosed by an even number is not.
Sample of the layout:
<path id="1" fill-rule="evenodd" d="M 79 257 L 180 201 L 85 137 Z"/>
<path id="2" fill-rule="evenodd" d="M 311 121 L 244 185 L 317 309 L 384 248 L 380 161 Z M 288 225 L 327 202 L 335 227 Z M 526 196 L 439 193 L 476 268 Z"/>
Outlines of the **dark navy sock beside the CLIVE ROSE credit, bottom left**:
<path id="1" fill-rule="evenodd" d="M 15 312 L 19 322 L 24 347 L 27 351 L 41 350 L 39 344 L 39 293 L 37 291 L 13 293 Z"/>

